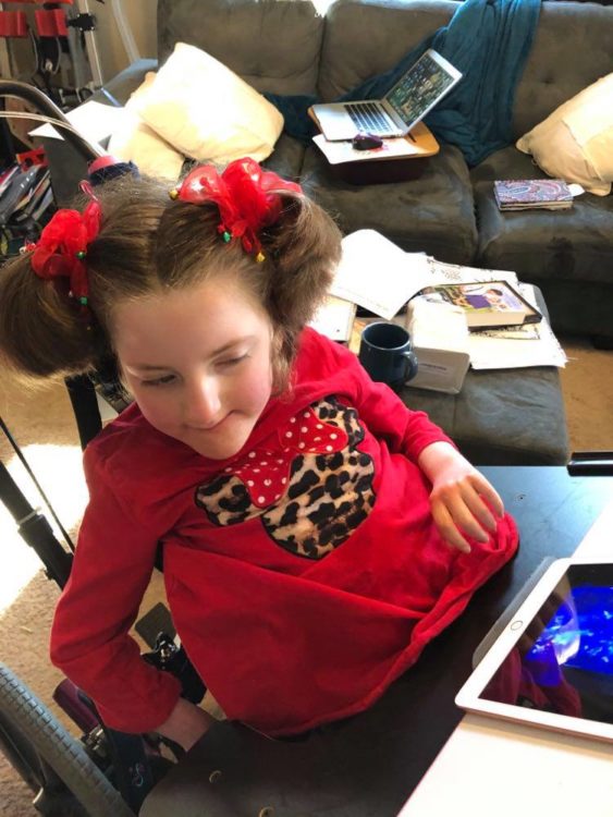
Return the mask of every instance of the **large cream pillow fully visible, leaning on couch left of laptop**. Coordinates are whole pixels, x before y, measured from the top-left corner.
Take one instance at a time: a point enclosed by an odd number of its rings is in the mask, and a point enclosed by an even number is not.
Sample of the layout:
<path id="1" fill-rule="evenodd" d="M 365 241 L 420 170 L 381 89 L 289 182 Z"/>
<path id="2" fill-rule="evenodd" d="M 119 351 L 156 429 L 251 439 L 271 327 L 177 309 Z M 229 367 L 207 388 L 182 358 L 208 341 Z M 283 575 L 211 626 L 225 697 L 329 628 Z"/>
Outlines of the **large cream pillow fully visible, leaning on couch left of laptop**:
<path id="1" fill-rule="evenodd" d="M 261 94 L 185 42 L 176 44 L 135 109 L 181 153 L 221 164 L 243 156 L 262 161 L 283 130 L 280 111 Z"/>

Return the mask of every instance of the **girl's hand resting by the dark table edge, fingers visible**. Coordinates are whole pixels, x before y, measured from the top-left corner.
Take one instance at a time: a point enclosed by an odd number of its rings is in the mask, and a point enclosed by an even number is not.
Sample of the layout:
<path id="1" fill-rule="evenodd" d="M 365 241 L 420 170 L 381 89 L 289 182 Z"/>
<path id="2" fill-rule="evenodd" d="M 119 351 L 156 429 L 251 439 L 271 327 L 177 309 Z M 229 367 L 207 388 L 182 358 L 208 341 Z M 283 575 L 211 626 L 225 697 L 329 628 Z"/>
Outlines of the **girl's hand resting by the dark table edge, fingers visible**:
<path id="1" fill-rule="evenodd" d="M 432 483 L 432 517 L 448 545 L 469 553 L 463 533 L 488 541 L 496 528 L 493 513 L 501 517 L 504 505 L 486 477 L 449 442 L 427 446 L 418 465 Z"/>

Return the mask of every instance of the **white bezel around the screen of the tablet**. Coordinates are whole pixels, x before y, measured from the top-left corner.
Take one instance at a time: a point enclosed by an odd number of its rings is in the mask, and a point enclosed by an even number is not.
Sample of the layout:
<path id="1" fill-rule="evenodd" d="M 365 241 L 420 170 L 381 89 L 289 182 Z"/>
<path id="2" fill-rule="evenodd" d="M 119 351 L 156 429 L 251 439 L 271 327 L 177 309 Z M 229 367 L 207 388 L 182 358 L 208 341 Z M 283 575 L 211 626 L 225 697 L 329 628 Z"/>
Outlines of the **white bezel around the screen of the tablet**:
<path id="1" fill-rule="evenodd" d="M 569 715 L 539 711 L 538 709 L 513 704 L 501 704 L 479 697 L 499 667 L 517 644 L 523 633 L 527 630 L 548 596 L 572 564 L 611 565 L 613 564 L 613 557 L 610 554 L 584 558 L 572 557 L 569 559 L 556 559 L 552 562 L 530 590 L 517 612 L 512 617 L 508 624 L 487 650 L 481 661 L 473 670 L 473 673 L 457 693 L 455 703 L 462 709 L 470 712 L 492 715 L 504 720 L 529 723 L 559 732 L 613 742 L 613 723 L 575 718 Z"/>

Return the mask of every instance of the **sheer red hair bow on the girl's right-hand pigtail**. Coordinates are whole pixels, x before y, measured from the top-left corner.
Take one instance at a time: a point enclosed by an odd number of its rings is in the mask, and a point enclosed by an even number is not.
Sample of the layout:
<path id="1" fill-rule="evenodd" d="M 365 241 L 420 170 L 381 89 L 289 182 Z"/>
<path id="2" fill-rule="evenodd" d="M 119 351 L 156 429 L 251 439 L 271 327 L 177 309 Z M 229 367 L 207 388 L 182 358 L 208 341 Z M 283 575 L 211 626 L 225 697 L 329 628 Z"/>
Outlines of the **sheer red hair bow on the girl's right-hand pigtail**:
<path id="1" fill-rule="evenodd" d="M 236 159 L 221 173 L 211 164 L 194 168 L 171 196 L 182 202 L 214 202 L 224 241 L 241 239 L 246 253 L 263 260 L 259 231 L 273 224 L 281 212 L 281 191 L 302 193 L 301 186 L 286 182 L 270 170 L 262 170 L 254 159 Z"/>

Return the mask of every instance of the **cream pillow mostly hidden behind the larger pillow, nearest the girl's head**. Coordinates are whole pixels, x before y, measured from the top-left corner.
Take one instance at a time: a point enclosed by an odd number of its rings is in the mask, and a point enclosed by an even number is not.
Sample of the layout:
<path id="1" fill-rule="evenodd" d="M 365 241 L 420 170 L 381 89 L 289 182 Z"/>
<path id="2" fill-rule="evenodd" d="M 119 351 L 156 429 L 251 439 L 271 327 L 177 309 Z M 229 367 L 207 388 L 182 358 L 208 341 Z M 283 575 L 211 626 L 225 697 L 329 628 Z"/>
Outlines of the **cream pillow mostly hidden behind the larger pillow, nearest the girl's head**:
<path id="1" fill-rule="evenodd" d="M 140 94 L 151 86 L 156 74 L 149 72 L 145 82 L 127 100 L 122 111 L 119 126 L 109 141 L 109 154 L 133 161 L 144 175 L 154 175 L 175 182 L 183 168 L 185 156 L 164 142 L 136 113 L 136 102 Z"/>

